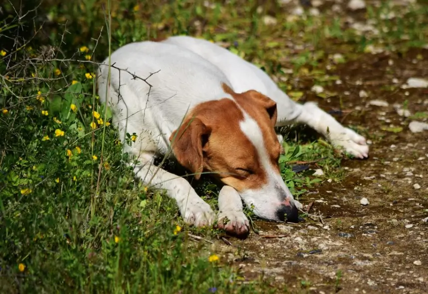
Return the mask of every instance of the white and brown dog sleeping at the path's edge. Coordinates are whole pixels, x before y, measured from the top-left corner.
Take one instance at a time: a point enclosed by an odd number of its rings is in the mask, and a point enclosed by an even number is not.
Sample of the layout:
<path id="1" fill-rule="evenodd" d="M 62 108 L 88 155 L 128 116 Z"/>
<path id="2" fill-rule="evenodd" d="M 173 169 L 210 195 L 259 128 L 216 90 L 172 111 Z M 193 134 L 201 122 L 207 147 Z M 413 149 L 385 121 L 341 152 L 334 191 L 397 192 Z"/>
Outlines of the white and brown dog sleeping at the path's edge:
<path id="1" fill-rule="evenodd" d="M 218 195 L 218 225 L 236 234 L 248 231 L 241 199 L 263 219 L 297 219 L 278 168 L 282 137 L 274 127 L 306 124 L 334 146 L 368 156 L 364 137 L 314 103 L 293 102 L 262 70 L 209 41 L 176 36 L 130 43 L 112 53 L 111 64 L 109 85 L 108 66 L 99 68 L 98 91 L 100 100 L 113 107 L 122 142 L 126 133 L 138 135 L 132 146 L 124 144 L 124 151 L 138 157 L 136 175 L 166 189 L 190 224 L 210 225 L 215 214 L 186 179 L 153 164 L 155 156 L 171 148 L 196 178 L 212 172 L 225 184 Z M 150 86 L 135 76 L 154 72 L 149 95 Z"/>

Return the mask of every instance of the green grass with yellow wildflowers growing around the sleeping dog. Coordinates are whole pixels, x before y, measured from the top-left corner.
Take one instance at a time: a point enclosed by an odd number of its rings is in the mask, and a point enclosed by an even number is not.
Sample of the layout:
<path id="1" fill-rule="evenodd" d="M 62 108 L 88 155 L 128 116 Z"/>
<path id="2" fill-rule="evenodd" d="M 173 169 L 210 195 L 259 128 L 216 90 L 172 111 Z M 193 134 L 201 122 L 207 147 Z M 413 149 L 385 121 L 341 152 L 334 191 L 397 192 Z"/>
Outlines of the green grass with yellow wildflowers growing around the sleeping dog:
<path id="1" fill-rule="evenodd" d="M 98 0 L 47 0 L 37 15 L 31 11 L 37 3 L 28 1 L 22 11 L 30 12 L 23 18 L 10 3 L 2 4 L 7 11 L 0 22 L 4 52 L 0 57 L 2 293 L 275 291 L 269 280 L 242 283 L 246 279 L 229 266 L 217 245 L 195 242 L 187 235 L 191 232 L 216 242 L 220 232 L 186 226 L 173 201 L 134 181 L 117 131 L 107 126 L 111 114 L 98 103 L 93 62 L 108 55 L 109 40 L 115 50 L 131 41 L 199 35 L 227 42 L 232 52 L 285 78 L 278 84 L 299 100 L 305 91 L 292 82 L 295 79 L 323 86 L 338 79 L 325 71 L 332 53 L 352 52 L 346 55 L 350 60 L 369 44 L 402 50 L 421 45 L 427 32 L 427 8 L 409 9 L 413 22 L 382 20 L 380 15 L 390 8 L 370 8 L 367 14 L 376 20 L 375 26 L 390 30 L 359 36 L 344 29 L 342 18 L 287 20 L 281 9 L 278 24 L 269 27 L 257 14 L 256 2 L 242 5 L 232 0 L 207 8 L 202 1 L 165 5 L 114 1 L 111 22 L 106 21 L 107 2 Z M 19 6 L 15 8 L 19 13 Z M 409 38 L 401 41 L 403 35 Z M 295 51 L 284 46 L 287 39 L 295 45 L 312 44 L 315 50 Z M 334 70 L 335 65 L 330 65 Z M 284 68 L 293 72 L 284 73 Z M 323 158 L 317 164 L 325 177 L 340 180 L 344 173 L 342 157 L 324 141 L 300 132 L 295 140 L 300 130 L 282 130 L 288 139 L 280 167 L 292 193 L 302 199 L 323 178 L 311 172 L 296 174 L 287 163 Z M 129 135 L 125 144 L 132 144 Z M 214 183 L 204 179 L 193 185 L 216 206 Z M 237 248 L 236 254 L 244 252 Z M 211 255 L 220 260 L 210 262 Z M 337 281 L 339 285 L 340 277 Z"/>

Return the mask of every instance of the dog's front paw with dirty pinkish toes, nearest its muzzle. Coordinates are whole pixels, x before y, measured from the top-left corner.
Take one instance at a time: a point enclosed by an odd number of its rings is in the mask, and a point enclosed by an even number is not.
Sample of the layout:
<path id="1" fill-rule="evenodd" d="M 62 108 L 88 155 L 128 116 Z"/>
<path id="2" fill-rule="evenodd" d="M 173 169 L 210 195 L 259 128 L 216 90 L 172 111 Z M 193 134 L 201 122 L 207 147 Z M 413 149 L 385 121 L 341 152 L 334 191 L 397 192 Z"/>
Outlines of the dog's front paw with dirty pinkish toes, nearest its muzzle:
<path id="1" fill-rule="evenodd" d="M 249 233 L 249 222 L 242 210 L 220 211 L 217 226 L 231 235 L 246 236 Z"/>

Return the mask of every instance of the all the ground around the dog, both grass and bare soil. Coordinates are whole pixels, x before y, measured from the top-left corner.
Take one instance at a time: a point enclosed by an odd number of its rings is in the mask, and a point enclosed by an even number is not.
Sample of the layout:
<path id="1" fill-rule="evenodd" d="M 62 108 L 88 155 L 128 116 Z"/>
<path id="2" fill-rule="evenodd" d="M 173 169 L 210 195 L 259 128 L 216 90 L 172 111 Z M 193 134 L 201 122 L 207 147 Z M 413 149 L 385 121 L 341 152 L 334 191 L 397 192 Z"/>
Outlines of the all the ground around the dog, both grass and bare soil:
<path id="1" fill-rule="evenodd" d="M 403 87 L 428 76 L 426 1 L 36 2 L 0 5 L 2 292 L 428 293 L 428 131 L 409 128 L 427 122 L 428 87 Z M 119 46 L 175 34 L 260 66 L 364 135 L 370 157 L 280 130 L 301 221 L 247 210 L 243 240 L 187 226 L 134 181 L 92 76 Z M 216 206 L 215 183 L 192 184 Z"/>

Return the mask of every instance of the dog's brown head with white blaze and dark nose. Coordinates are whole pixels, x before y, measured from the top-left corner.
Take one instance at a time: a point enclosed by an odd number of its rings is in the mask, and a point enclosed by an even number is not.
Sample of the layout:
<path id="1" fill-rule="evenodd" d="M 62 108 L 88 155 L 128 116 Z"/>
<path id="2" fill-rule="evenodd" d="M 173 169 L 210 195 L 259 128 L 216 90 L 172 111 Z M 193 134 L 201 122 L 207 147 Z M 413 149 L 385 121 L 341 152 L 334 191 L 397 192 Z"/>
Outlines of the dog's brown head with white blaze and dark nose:
<path id="1" fill-rule="evenodd" d="M 279 171 L 282 146 L 275 134 L 276 103 L 259 92 L 196 106 L 170 137 L 177 160 L 195 173 L 212 172 L 236 189 L 247 206 L 264 219 L 295 221 L 293 196 Z"/>

